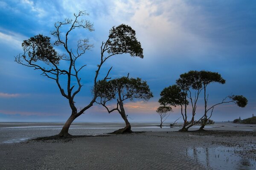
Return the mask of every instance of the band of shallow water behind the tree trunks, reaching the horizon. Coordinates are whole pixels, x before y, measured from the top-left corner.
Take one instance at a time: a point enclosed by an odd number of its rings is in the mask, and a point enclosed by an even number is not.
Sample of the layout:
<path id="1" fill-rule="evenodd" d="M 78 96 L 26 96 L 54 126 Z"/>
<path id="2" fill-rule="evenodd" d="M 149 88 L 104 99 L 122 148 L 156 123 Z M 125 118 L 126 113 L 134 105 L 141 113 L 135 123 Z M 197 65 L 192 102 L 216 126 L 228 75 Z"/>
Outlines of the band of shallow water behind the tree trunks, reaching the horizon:
<path id="1" fill-rule="evenodd" d="M 52 136 L 60 132 L 64 123 L 38 123 L 38 122 L 0 122 L 0 143 L 22 142 L 27 139 Z M 179 126 L 170 127 L 169 123 L 159 127 L 159 123 L 131 123 L 133 131 L 177 131 Z M 124 127 L 124 123 L 76 123 L 70 126 L 72 135 L 104 135 Z M 197 130 L 199 126 L 191 127 Z M 207 130 L 256 130 L 256 125 L 233 123 L 216 123 L 206 126 Z"/>

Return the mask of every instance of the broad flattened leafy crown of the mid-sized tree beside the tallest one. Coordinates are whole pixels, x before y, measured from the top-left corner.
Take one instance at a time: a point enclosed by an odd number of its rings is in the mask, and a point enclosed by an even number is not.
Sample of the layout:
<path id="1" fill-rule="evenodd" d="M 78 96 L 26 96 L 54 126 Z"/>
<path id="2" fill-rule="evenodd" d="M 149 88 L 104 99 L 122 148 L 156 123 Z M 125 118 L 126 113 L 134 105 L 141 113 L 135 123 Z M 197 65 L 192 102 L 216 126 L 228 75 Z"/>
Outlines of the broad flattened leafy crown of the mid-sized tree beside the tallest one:
<path id="1" fill-rule="evenodd" d="M 107 101 L 116 99 L 116 97 L 119 98 L 119 94 L 122 101 L 126 99 L 130 101 L 134 99 L 148 101 L 153 97 L 147 82 L 142 81 L 140 78 L 121 77 L 110 81 L 103 80 L 97 83 L 97 87 L 100 87 L 97 96 L 101 98 L 104 104 Z"/>

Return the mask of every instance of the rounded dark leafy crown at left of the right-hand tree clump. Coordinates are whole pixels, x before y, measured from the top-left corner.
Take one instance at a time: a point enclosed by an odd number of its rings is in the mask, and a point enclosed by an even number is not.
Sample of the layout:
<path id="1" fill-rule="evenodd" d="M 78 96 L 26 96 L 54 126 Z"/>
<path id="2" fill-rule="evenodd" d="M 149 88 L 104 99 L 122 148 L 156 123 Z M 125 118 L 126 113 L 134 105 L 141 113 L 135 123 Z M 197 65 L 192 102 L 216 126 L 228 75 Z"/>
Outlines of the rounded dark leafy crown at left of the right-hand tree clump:
<path id="1" fill-rule="evenodd" d="M 185 96 L 186 94 L 181 91 L 180 87 L 177 85 L 169 86 L 168 88 L 164 88 L 160 94 L 161 98 L 158 100 L 160 105 L 185 105 Z M 186 104 L 188 101 L 186 100 Z"/>

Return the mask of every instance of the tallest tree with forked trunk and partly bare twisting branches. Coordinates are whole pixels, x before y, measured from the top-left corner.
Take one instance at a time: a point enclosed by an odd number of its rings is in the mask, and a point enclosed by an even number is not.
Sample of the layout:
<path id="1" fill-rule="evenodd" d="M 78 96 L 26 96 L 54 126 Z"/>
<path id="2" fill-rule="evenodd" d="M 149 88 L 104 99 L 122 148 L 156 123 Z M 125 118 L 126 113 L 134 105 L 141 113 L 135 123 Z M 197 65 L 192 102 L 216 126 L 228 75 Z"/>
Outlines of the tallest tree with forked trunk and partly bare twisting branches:
<path id="1" fill-rule="evenodd" d="M 55 30 L 51 32 L 56 38 L 53 45 L 63 47 L 66 54 L 58 53 L 50 43 L 49 37 L 38 34 L 35 37 L 29 38 L 29 40 L 24 40 L 22 43 L 23 54 L 15 57 L 17 63 L 34 68 L 34 70 L 39 70 L 42 72 L 43 76 L 53 79 L 61 91 L 61 95 L 68 100 L 71 115 L 58 136 L 70 136 L 68 130 L 71 123 L 84 113 L 84 111 L 93 106 L 97 94 L 102 88 L 101 86 L 97 86 L 99 71 L 108 58 L 123 53 L 130 54 L 132 57 L 137 56 L 143 58 L 143 49 L 141 48 L 140 42 L 136 39 L 135 31 L 130 26 L 121 24 L 120 26 L 111 28 L 108 40 L 102 42 L 101 45 L 100 62 L 97 65 L 94 77 L 93 87 L 95 90 L 93 98 L 89 103 L 84 105 L 84 107 L 78 109 L 75 105 L 75 96 L 80 92 L 83 86 L 79 72 L 86 65 L 82 65 L 78 68 L 77 63 L 83 54 L 92 48 L 93 45 L 89 44 L 88 39 L 82 39 L 77 42 L 76 48 L 73 50 L 74 48 L 72 48 L 72 46 L 70 46 L 71 43 L 69 43 L 69 35 L 71 31 L 77 28 L 94 31 L 93 24 L 90 23 L 90 21 L 80 19 L 86 15 L 88 15 L 88 13 L 80 11 L 79 14 L 74 14 L 74 20 L 65 19 L 63 22 L 55 23 Z M 65 31 L 64 28 L 67 28 L 65 34 L 61 32 Z M 65 65 L 68 66 L 65 67 Z M 108 70 L 105 78 L 103 78 L 103 81 L 110 79 L 108 75 L 111 68 Z M 63 81 L 60 81 L 60 79 L 66 81 L 64 85 L 61 84 Z M 66 88 L 66 90 L 64 90 L 64 88 Z"/>

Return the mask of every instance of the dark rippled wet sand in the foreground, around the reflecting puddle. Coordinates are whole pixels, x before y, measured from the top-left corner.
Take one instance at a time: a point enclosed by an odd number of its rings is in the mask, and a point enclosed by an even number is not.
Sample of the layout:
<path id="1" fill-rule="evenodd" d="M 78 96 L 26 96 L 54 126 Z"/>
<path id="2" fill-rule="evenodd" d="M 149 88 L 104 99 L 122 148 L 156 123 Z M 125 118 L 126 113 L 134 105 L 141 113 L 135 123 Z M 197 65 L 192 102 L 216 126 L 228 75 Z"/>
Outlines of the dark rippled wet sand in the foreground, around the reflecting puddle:
<path id="1" fill-rule="evenodd" d="M 233 154 L 256 160 L 256 132 L 174 131 L 91 136 L 65 141 L 0 144 L 3 170 L 205 170 L 218 167 L 191 156 L 194 148 L 236 147 Z M 253 147 L 254 146 L 254 147 Z M 199 153 L 198 153 L 199 154 Z M 224 160 L 225 161 L 225 160 Z M 235 163 L 234 163 L 235 164 Z M 253 169 L 253 165 L 243 168 Z M 256 166 L 256 165 L 255 165 Z"/>

